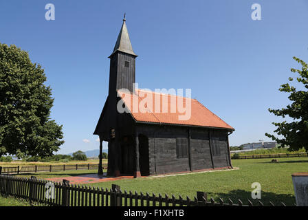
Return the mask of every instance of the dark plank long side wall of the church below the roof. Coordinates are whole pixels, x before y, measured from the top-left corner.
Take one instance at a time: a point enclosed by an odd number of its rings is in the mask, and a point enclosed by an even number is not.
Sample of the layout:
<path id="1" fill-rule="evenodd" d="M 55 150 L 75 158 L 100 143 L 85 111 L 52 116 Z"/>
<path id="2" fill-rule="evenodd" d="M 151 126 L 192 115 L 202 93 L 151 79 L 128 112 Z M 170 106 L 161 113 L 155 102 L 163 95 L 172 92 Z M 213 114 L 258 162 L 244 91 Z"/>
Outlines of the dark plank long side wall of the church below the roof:
<path id="1" fill-rule="evenodd" d="M 188 138 L 186 126 L 158 126 L 137 124 L 136 132 L 148 136 L 150 175 L 189 171 L 189 157 L 177 158 L 176 138 Z M 212 147 L 219 147 L 220 155 L 211 157 Z M 228 160 L 228 132 L 224 130 L 190 128 L 190 163 L 192 170 L 230 166 Z"/>

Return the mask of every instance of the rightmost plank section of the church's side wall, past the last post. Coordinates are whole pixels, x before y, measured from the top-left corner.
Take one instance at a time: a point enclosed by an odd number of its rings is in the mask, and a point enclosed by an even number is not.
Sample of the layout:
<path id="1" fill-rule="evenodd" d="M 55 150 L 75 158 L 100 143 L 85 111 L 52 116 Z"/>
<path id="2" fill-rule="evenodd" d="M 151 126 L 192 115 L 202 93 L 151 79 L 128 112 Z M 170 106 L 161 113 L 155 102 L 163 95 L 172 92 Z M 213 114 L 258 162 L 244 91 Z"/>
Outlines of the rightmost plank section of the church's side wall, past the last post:
<path id="1" fill-rule="evenodd" d="M 228 132 L 213 129 L 210 136 L 214 168 L 230 166 Z"/>

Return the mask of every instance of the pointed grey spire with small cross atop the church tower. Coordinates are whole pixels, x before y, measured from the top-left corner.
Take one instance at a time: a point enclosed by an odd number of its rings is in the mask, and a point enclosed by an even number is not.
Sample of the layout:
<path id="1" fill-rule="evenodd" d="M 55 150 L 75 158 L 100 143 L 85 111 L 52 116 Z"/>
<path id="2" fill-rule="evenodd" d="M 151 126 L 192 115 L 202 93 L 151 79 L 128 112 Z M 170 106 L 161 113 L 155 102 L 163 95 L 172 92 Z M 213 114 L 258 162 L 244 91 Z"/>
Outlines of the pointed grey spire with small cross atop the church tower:
<path id="1" fill-rule="evenodd" d="M 125 19 L 125 13 L 124 13 L 122 28 L 120 30 L 117 42 L 115 43 L 115 46 L 113 48 L 112 54 L 114 54 L 116 51 L 120 51 L 120 52 L 124 52 L 126 54 L 131 54 L 133 56 L 137 56 L 133 52 L 133 47 L 131 46 L 131 40 L 129 39 L 129 32 L 127 31 L 125 21 L 126 21 L 126 19 Z"/>

